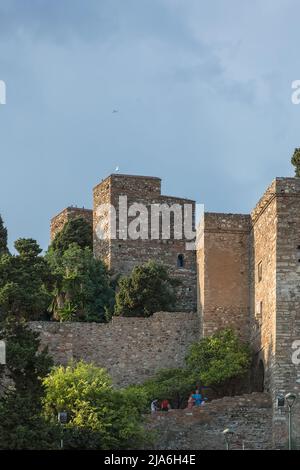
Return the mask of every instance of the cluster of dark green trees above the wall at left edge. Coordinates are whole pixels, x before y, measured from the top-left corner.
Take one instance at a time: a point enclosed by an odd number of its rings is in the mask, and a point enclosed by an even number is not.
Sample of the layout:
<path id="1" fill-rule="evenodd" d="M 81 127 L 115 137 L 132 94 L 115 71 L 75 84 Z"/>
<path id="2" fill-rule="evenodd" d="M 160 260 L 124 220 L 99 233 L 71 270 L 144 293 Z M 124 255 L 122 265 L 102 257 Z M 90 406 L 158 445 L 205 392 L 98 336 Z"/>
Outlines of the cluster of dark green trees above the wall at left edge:
<path id="1" fill-rule="evenodd" d="M 72 242 L 76 240 L 76 242 Z M 7 232 L 0 219 L 0 316 L 27 320 L 96 321 L 110 319 L 114 290 L 108 271 L 90 249 L 91 227 L 81 218 L 64 227 L 46 256 L 33 239 L 6 249 Z"/>

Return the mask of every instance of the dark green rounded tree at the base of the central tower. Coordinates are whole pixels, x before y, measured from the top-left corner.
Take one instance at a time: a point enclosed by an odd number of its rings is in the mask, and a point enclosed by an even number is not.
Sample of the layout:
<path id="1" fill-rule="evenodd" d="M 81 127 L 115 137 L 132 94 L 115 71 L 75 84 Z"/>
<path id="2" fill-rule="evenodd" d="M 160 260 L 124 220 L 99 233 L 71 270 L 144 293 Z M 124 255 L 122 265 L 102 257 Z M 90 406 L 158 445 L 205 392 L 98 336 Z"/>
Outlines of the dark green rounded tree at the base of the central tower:
<path id="1" fill-rule="evenodd" d="M 136 266 L 119 281 L 115 314 L 149 317 L 160 310 L 172 310 L 175 302 L 173 282 L 166 268 L 154 261 Z"/>

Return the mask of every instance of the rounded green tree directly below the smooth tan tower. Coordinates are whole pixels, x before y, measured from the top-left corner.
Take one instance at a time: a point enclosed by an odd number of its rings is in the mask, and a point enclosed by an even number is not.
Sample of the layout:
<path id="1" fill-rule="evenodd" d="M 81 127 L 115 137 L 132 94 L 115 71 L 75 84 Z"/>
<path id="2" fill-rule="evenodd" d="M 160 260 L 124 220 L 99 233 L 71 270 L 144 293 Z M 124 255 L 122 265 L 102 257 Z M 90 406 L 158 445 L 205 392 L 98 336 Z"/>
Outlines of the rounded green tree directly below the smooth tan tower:
<path id="1" fill-rule="evenodd" d="M 225 329 L 194 343 L 186 364 L 202 385 L 224 396 L 233 394 L 237 380 L 249 372 L 251 351 L 233 330 Z"/>

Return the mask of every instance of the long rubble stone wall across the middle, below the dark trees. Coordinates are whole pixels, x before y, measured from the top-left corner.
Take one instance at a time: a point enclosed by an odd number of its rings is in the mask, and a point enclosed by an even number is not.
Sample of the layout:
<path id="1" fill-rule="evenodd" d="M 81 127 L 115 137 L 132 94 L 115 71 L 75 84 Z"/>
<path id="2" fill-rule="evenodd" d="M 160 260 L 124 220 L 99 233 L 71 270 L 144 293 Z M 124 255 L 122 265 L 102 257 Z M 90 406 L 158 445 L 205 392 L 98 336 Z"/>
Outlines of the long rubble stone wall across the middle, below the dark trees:
<path id="1" fill-rule="evenodd" d="M 181 367 L 199 338 L 196 313 L 114 317 L 109 324 L 31 322 L 58 364 L 71 359 L 107 368 L 118 385 L 140 383 L 161 368 Z"/>

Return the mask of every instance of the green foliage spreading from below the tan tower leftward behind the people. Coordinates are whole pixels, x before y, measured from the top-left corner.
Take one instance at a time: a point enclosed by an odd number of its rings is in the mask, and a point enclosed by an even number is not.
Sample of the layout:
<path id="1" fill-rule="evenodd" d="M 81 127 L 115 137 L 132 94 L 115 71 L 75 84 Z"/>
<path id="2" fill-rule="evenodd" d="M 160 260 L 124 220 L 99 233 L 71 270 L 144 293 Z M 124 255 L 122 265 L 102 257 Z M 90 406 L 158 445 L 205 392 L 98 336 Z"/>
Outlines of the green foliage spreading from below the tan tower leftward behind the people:
<path id="1" fill-rule="evenodd" d="M 234 331 L 222 330 L 194 343 L 185 366 L 161 369 L 142 385 L 129 387 L 146 398 L 147 408 L 154 399 L 168 399 L 174 408 L 186 406 L 188 397 L 198 387 L 208 387 L 217 396 L 235 393 L 243 384 L 251 363 L 251 351 Z"/>

